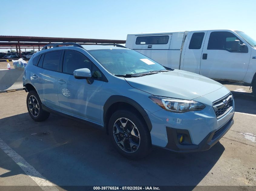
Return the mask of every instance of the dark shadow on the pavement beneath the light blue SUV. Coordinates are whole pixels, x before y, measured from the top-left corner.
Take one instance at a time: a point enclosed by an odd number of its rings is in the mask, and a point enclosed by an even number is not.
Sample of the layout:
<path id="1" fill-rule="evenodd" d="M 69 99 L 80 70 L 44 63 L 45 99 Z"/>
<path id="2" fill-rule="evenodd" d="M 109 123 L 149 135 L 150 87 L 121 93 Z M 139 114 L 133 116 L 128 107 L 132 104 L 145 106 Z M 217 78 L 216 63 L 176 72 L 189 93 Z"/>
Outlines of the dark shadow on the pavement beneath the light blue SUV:
<path id="1" fill-rule="evenodd" d="M 0 138 L 46 179 L 63 188 L 69 185 L 193 188 L 206 174 L 211 176 L 212 167 L 224 151 L 219 142 L 208 151 L 191 154 L 153 148 L 147 158 L 131 161 L 115 151 L 105 131 L 73 119 L 51 114 L 46 121 L 35 122 L 28 113 L 23 113 L 0 119 L 0 124 Z M 12 167 L 17 164 L 8 164 L 11 159 L 5 155 L 0 155 L 0 167 L 11 172 L 0 177 L 21 173 L 21 169 Z"/>

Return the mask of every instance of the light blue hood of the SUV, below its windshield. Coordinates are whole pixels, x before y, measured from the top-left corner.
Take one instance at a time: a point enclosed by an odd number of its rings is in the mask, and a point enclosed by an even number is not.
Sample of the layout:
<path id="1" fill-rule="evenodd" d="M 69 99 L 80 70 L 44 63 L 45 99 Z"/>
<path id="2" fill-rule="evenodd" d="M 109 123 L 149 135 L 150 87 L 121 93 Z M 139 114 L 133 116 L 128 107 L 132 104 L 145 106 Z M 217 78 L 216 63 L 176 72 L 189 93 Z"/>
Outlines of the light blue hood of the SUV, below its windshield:
<path id="1" fill-rule="evenodd" d="M 134 88 L 152 95 L 193 100 L 223 87 L 210 78 L 183 70 L 125 78 Z"/>

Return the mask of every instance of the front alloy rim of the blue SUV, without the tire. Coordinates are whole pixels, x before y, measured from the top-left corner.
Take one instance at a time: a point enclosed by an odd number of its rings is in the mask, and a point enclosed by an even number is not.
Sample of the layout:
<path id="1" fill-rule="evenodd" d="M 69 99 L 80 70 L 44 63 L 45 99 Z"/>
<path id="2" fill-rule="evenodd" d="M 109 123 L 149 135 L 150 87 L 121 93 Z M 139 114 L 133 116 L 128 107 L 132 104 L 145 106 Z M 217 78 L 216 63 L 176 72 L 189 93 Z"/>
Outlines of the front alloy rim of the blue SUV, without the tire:
<path id="1" fill-rule="evenodd" d="M 140 146 L 140 133 L 135 124 L 127 118 L 119 118 L 113 126 L 113 135 L 117 145 L 125 152 L 133 153 Z"/>

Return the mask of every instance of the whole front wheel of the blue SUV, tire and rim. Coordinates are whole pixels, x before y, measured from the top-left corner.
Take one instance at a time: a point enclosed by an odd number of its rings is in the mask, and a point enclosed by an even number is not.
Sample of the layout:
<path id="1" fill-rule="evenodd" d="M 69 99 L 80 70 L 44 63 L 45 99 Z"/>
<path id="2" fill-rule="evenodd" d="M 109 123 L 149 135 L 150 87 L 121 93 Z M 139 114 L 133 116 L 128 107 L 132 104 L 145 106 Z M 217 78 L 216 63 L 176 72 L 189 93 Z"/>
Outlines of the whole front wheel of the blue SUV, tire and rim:
<path id="1" fill-rule="evenodd" d="M 126 158 L 144 158 L 151 151 L 151 136 L 144 119 L 136 112 L 117 110 L 108 123 L 108 133 L 117 151 Z"/>

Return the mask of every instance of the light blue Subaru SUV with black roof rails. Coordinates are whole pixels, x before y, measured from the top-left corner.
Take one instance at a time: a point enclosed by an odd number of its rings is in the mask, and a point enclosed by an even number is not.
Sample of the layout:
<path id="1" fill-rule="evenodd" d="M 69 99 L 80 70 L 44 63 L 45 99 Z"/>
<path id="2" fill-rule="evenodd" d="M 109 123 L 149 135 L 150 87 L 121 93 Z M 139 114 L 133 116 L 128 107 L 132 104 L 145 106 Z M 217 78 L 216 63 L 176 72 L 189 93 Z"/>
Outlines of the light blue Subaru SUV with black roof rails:
<path id="1" fill-rule="evenodd" d="M 54 112 L 93 124 L 131 159 L 152 145 L 207 150 L 234 123 L 233 96 L 222 84 L 121 45 L 47 45 L 29 60 L 23 85 L 32 119 Z"/>

